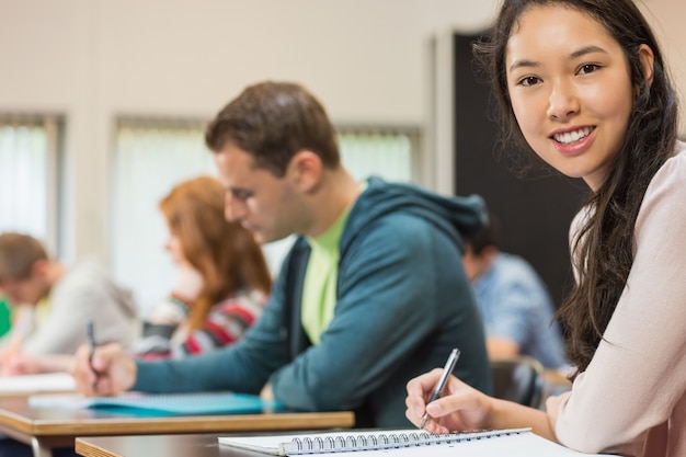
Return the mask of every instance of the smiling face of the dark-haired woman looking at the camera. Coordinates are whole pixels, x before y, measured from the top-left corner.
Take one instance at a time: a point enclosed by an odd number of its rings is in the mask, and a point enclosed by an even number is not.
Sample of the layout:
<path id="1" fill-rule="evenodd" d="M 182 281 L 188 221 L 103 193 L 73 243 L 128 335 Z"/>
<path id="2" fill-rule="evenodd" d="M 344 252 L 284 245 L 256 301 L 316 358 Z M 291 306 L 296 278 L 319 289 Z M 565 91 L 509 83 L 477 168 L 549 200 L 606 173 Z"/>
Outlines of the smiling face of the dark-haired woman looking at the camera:
<path id="1" fill-rule="evenodd" d="M 515 23 L 505 65 L 526 141 L 548 164 L 596 191 L 626 136 L 633 99 L 619 43 L 578 10 L 534 7 Z"/>

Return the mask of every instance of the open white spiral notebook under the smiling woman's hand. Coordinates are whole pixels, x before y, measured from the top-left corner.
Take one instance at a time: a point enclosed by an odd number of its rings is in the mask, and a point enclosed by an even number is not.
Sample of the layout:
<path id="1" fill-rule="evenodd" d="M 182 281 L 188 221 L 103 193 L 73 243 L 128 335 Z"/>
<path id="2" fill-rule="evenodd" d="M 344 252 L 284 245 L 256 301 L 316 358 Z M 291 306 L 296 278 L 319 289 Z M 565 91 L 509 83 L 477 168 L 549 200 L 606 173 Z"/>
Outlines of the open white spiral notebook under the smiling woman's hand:
<path id="1" fill-rule="evenodd" d="M 307 435 L 221 436 L 221 445 L 274 456 L 325 456 L 350 454 L 367 457 L 572 457 L 583 456 L 552 443 L 530 429 L 508 429 L 469 433 L 428 434 L 413 430 L 341 431 Z M 599 456 L 601 454 L 593 454 Z"/>

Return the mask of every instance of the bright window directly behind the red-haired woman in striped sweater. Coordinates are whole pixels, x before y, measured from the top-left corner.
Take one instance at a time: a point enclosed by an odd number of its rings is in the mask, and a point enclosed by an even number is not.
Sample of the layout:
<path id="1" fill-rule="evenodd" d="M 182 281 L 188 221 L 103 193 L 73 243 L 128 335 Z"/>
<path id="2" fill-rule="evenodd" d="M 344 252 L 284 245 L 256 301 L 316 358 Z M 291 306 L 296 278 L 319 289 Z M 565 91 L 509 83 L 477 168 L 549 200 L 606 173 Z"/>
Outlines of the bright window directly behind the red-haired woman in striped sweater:
<path id="1" fill-rule="evenodd" d="M 122 119 L 115 128 L 111 262 L 145 311 L 172 286 L 174 266 L 164 250 L 168 231 L 158 209 L 171 187 L 201 174 L 216 175 L 199 121 Z"/>

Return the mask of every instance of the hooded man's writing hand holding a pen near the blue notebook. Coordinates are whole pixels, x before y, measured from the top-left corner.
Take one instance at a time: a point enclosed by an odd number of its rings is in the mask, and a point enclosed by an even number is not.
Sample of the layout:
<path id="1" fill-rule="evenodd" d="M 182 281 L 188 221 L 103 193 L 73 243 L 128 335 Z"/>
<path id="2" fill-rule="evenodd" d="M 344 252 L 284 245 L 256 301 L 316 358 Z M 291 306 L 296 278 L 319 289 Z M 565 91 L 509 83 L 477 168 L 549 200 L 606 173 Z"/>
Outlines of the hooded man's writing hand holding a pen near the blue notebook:
<path id="1" fill-rule="evenodd" d="M 136 363 L 117 343 L 95 347 L 83 344 L 75 354 L 69 373 L 77 391 L 85 396 L 113 396 L 129 390 L 136 380 Z"/>

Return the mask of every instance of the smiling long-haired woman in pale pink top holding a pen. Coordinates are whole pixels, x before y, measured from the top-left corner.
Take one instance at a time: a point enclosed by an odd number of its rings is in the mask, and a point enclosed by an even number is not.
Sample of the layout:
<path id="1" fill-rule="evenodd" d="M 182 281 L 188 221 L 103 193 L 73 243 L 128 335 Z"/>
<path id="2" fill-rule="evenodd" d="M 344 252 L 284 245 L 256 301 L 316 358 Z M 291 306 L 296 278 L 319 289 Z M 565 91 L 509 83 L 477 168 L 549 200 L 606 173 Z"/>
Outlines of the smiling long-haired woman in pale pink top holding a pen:
<path id="1" fill-rule="evenodd" d="M 426 411 L 430 432 L 531 426 L 576 450 L 686 455 L 686 145 L 649 24 L 632 0 L 504 1 L 477 52 L 508 138 L 592 191 L 559 311 L 576 373 L 544 412 L 455 377 L 426 405 L 434 370 L 409 382 L 408 418 Z"/>

